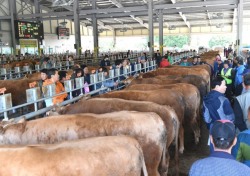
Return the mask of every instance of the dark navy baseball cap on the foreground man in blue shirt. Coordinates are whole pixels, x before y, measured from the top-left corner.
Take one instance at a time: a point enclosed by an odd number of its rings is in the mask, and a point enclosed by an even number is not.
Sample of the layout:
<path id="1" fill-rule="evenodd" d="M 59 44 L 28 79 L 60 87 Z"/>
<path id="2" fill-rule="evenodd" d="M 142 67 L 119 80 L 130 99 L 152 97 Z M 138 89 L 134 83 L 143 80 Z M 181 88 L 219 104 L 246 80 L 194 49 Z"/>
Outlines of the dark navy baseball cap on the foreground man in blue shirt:
<path id="1" fill-rule="evenodd" d="M 217 120 L 211 128 L 213 139 L 231 142 L 235 138 L 235 126 L 229 120 Z"/>

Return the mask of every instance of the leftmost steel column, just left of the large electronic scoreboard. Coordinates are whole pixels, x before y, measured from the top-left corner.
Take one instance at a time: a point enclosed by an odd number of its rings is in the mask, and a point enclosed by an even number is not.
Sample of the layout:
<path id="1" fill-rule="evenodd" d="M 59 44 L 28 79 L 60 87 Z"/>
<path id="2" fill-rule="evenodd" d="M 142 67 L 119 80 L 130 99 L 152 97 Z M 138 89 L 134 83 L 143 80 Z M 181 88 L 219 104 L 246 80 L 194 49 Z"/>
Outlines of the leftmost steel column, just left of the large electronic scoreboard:
<path id="1" fill-rule="evenodd" d="M 16 55 L 16 34 L 15 34 L 15 19 L 16 19 L 16 0 L 9 0 L 10 7 L 10 24 L 11 24 L 11 36 L 12 36 L 12 47 L 13 54 Z"/>

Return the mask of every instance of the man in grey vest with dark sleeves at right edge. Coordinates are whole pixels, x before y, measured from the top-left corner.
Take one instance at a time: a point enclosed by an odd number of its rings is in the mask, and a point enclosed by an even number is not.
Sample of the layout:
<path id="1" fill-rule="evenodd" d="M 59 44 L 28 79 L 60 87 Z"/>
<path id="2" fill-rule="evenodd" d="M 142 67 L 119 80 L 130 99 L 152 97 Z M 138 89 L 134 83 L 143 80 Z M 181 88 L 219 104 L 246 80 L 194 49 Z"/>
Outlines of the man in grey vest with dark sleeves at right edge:
<path id="1" fill-rule="evenodd" d="M 250 106 L 250 73 L 243 76 L 243 87 L 246 92 L 236 97 L 233 106 L 235 125 L 240 131 L 250 129 L 250 120 L 247 117 Z"/>

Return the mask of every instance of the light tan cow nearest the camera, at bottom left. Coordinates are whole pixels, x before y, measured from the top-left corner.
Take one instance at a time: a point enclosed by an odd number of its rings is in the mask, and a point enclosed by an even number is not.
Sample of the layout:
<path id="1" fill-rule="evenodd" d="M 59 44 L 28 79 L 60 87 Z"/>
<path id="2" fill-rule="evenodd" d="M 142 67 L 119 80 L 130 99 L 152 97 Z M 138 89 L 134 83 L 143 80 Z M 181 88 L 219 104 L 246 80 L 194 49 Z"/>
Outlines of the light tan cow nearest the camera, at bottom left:
<path id="1" fill-rule="evenodd" d="M 126 136 L 1 146 L 0 155 L 0 173 L 6 176 L 140 176 L 141 171 L 148 175 L 139 143 Z"/>

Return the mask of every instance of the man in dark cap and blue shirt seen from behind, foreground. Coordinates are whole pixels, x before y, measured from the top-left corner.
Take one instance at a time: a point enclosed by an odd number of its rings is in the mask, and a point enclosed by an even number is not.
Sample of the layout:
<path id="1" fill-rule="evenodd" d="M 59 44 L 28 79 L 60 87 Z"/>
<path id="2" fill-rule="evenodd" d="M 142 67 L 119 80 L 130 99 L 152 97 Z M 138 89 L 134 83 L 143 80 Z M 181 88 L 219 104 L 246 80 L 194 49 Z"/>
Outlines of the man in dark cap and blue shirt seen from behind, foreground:
<path id="1" fill-rule="evenodd" d="M 250 168 L 236 161 L 231 149 L 236 144 L 235 126 L 228 120 L 214 122 L 210 130 L 214 152 L 209 157 L 196 161 L 190 176 L 248 176 Z"/>

